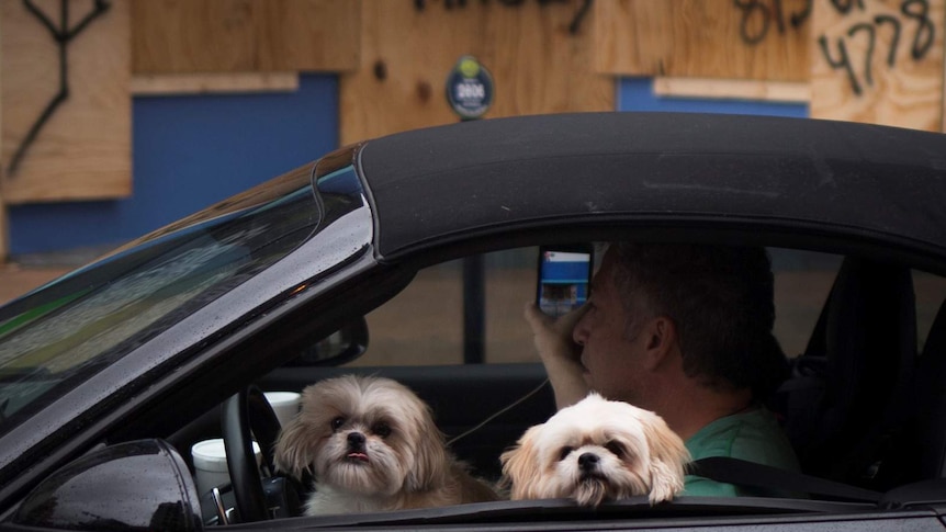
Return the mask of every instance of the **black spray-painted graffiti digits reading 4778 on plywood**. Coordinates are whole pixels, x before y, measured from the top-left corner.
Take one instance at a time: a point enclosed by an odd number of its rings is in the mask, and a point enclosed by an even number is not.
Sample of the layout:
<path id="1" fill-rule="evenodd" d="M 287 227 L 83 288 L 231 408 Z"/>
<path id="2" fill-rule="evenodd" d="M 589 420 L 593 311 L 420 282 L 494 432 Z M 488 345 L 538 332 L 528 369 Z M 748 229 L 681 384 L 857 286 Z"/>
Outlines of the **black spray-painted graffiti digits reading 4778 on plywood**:
<path id="1" fill-rule="evenodd" d="M 832 5 L 838 13 L 847 15 L 853 11 L 865 11 L 863 0 L 832 0 Z M 930 19 L 927 0 L 903 0 L 900 2 L 899 15 L 877 14 L 848 26 L 847 31 L 833 41 L 827 35 L 818 37 L 819 50 L 827 65 L 835 70 L 843 70 L 847 76 L 851 90 L 860 95 L 865 87 L 874 87 L 874 55 L 877 53 L 878 32 L 890 35 L 885 64 L 893 69 L 897 66 L 901 36 L 906 32 L 912 35 L 910 41 L 910 58 L 923 59 L 933 47 L 936 37 L 936 26 Z M 858 72 L 848 53 L 848 43 L 860 39 L 865 46 L 863 68 Z"/>

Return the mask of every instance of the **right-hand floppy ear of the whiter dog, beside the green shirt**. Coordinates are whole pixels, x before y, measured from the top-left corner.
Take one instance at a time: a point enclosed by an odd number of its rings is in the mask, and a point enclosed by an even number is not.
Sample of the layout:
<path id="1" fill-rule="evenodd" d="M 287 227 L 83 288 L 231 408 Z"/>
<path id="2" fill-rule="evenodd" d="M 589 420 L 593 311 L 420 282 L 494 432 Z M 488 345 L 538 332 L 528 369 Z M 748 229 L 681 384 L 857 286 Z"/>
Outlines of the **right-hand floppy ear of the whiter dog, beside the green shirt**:
<path id="1" fill-rule="evenodd" d="M 684 489 L 685 467 L 690 453 L 683 440 L 667 427 L 663 418 L 654 415 L 643 420 L 644 437 L 651 453 L 651 505 L 671 500 Z"/>

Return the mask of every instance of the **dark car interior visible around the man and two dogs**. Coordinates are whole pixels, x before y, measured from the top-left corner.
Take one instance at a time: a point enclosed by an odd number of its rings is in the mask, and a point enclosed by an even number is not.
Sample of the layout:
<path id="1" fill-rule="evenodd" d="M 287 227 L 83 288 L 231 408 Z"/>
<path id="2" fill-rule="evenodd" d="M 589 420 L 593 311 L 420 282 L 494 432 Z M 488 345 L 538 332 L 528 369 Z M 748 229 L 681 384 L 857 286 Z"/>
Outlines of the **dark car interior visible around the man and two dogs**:
<path id="1" fill-rule="evenodd" d="M 946 500 L 942 394 L 946 280 L 875 257 L 778 248 L 769 252 L 776 280 L 776 336 L 790 359 L 791 376 L 765 403 L 781 421 L 802 472 L 779 474 L 752 466 L 740 472 L 744 464 L 732 463 L 698 467 L 720 482 L 791 487 L 803 496 L 739 501 L 684 497 L 654 508 L 642 497 L 606 505 L 596 518 L 618 518 L 629 508 L 650 517 L 680 511 L 742 516 L 868 512 Z M 476 476 L 498 482 L 499 455 L 528 427 L 554 414 L 552 389 L 522 318 L 522 304 L 534 294 L 536 254 L 530 247 L 485 257 L 485 360 L 465 360 L 463 261 L 435 264 L 418 271 L 401 293 L 363 319 L 302 350 L 247 390 L 160 438 L 195 475 L 191 453 L 195 444 L 221 438 L 248 440 L 251 431 L 264 450 L 262 468 L 236 473 L 232 466 L 233 484 L 258 485 L 257 478 L 262 479 L 261 497 L 269 512 L 260 519 L 297 518 L 311 478 L 273 473 L 266 450 L 271 448 L 267 442 L 275 440 L 279 423 L 260 392 L 301 392 L 351 373 L 381 375 L 413 389 L 431 407 L 450 450 Z M 252 463 L 247 457 L 250 448 L 243 452 L 244 464 Z M 204 523 L 239 522 L 234 518 L 234 508 L 241 508 L 237 494 L 226 484 L 219 488 L 200 494 Z M 394 517 L 336 516 L 320 523 L 410 524 L 438 519 L 470 523 L 574 518 L 588 511 L 563 500 L 475 506 L 405 510 Z"/>

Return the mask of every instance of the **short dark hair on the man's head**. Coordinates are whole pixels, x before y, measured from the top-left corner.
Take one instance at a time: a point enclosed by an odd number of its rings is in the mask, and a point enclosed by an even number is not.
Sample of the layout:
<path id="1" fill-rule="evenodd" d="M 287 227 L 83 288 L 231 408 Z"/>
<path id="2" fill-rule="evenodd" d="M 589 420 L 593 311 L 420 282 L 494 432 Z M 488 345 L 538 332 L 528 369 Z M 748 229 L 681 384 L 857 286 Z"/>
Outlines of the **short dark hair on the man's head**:
<path id="1" fill-rule="evenodd" d="M 626 335 L 637 335 L 643 319 L 672 319 L 684 372 L 714 388 L 752 388 L 758 397 L 786 377 L 787 360 L 772 332 L 775 282 L 765 248 L 635 242 L 611 248 L 615 286 L 627 314 L 641 318 L 627 324 Z"/>

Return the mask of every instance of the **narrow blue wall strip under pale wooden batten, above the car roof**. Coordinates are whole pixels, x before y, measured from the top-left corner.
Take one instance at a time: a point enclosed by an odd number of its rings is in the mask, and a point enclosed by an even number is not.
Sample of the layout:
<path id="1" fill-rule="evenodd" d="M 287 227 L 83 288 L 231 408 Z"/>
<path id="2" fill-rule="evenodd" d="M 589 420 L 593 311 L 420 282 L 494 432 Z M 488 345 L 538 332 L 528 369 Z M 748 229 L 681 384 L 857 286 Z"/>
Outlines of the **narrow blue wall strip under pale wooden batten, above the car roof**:
<path id="1" fill-rule="evenodd" d="M 692 113 L 756 114 L 808 117 L 808 105 L 748 100 L 716 100 L 656 97 L 652 78 L 622 78 L 618 81 L 618 111 L 671 111 Z"/>

